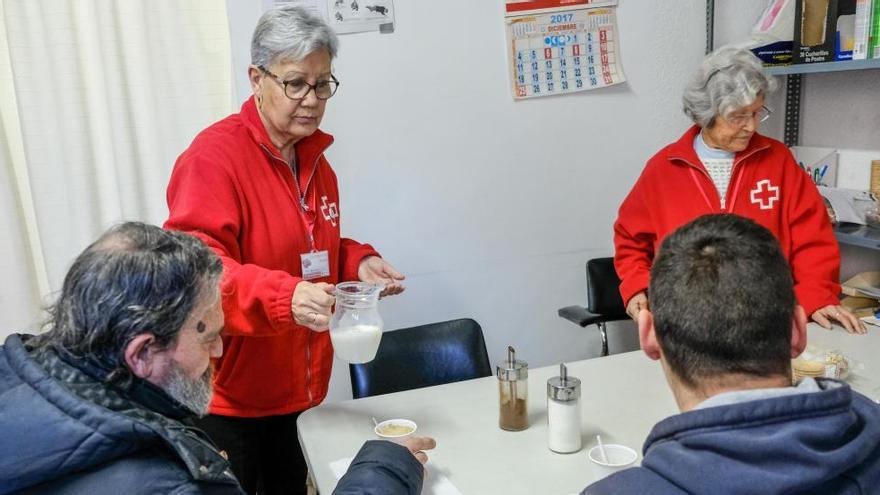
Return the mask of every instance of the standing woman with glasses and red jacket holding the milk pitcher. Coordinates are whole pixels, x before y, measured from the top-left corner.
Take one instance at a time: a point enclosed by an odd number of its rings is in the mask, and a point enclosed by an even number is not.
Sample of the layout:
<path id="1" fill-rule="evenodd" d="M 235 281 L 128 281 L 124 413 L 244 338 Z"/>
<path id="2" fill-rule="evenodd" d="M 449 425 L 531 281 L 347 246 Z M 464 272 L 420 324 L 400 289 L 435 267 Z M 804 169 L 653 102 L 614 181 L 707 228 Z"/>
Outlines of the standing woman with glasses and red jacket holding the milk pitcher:
<path id="1" fill-rule="evenodd" d="M 367 244 L 340 236 L 336 174 L 318 129 L 339 80 L 338 40 L 296 7 L 266 12 L 254 30 L 253 96 L 202 131 L 168 184 L 165 227 L 192 233 L 224 265 L 223 357 L 210 415 L 199 425 L 226 450 L 246 491 L 305 493 L 300 412 L 327 395 L 327 332 L 335 284 L 403 276 Z"/>

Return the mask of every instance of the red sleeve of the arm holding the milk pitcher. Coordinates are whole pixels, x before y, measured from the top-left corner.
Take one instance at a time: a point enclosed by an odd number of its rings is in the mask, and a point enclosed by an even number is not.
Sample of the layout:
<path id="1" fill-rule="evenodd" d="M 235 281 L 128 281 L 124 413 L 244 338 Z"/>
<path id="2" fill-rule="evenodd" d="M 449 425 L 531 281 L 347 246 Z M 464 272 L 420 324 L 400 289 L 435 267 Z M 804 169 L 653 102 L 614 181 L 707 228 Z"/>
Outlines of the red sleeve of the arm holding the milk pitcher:
<path id="1" fill-rule="evenodd" d="M 204 241 L 223 261 L 223 311 L 230 335 L 270 336 L 294 328 L 290 301 L 301 281 L 281 270 L 241 263 L 239 190 L 223 158 L 184 154 L 168 184 L 166 229 Z"/>

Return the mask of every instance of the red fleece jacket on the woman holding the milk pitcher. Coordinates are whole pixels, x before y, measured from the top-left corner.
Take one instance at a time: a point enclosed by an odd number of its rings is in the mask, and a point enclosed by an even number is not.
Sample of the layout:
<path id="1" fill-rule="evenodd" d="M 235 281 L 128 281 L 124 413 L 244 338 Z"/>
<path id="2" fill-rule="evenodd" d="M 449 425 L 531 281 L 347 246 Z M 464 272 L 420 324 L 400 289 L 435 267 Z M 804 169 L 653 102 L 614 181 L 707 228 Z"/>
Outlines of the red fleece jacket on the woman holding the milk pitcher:
<path id="1" fill-rule="evenodd" d="M 329 334 L 297 325 L 290 307 L 302 280 L 300 255 L 310 251 L 308 224 L 316 249 L 330 258 L 330 276 L 311 282 L 357 280 L 361 260 L 378 254 L 340 238 L 336 174 L 324 158 L 332 142 L 319 130 L 296 143 L 305 214 L 291 167 L 270 141 L 253 97 L 240 113 L 199 133 L 174 165 L 165 228 L 199 237 L 224 266 L 226 335 L 211 413 L 287 414 L 327 395 Z"/>

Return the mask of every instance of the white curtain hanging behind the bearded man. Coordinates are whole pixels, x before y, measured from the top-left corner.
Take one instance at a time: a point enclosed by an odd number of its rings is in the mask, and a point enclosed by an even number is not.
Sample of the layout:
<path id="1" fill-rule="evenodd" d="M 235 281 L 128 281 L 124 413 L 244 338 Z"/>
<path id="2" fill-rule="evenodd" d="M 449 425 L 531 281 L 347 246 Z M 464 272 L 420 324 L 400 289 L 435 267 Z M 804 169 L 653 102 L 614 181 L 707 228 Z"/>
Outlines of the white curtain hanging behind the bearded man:
<path id="1" fill-rule="evenodd" d="M 224 0 L 0 0 L 0 337 L 36 329 L 104 229 L 161 224 L 231 70 Z"/>

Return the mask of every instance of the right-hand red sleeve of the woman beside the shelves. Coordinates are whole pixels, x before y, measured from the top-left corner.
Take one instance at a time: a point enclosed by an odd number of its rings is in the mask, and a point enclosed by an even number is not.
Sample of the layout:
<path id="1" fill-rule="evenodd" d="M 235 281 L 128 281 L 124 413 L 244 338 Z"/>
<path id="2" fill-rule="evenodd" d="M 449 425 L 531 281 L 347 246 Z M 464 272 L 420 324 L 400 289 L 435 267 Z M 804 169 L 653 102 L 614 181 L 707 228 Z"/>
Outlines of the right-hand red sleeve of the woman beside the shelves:
<path id="1" fill-rule="evenodd" d="M 829 304 L 840 304 L 840 249 L 822 196 L 791 154 L 786 169 L 792 187 L 788 204 L 791 273 L 798 303 L 807 316 Z"/>

